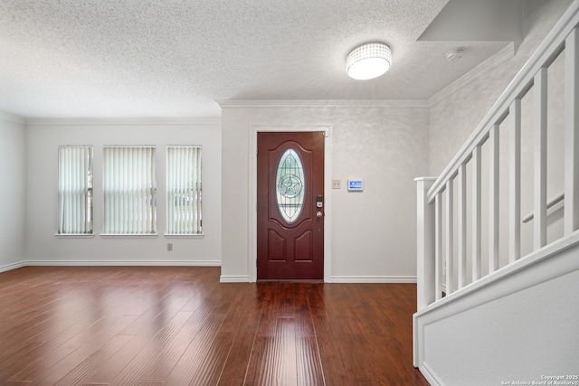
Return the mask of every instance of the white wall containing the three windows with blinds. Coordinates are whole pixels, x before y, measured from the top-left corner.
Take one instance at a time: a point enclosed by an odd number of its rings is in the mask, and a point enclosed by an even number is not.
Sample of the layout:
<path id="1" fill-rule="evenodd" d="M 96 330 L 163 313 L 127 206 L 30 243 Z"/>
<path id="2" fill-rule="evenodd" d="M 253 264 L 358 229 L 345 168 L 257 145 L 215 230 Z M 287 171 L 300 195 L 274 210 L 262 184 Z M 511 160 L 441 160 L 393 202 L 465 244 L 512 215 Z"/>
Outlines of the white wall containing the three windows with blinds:
<path id="1" fill-rule="evenodd" d="M 219 120 L 34 119 L 27 121 L 25 259 L 28 264 L 219 265 L 221 130 Z M 59 145 L 94 147 L 93 238 L 56 237 Z M 103 238 L 102 146 L 157 146 L 157 238 Z M 166 146 L 203 146 L 203 238 L 167 238 Z M 166 244 L 173 243 L 173 251 Z"/>

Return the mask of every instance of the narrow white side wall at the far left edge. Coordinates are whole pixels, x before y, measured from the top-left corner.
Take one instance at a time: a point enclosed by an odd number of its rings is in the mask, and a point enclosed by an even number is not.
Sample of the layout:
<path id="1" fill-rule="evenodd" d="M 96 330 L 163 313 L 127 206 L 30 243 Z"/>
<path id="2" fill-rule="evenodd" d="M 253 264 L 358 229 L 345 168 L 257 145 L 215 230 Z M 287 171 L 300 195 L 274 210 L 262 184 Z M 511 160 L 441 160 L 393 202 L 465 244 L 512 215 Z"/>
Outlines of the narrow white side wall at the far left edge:
<path id="1" fill-rule="evenodd" d="M 26 197 L 24 120 L 0 113 L 0 272 L 23 265 Z"/>

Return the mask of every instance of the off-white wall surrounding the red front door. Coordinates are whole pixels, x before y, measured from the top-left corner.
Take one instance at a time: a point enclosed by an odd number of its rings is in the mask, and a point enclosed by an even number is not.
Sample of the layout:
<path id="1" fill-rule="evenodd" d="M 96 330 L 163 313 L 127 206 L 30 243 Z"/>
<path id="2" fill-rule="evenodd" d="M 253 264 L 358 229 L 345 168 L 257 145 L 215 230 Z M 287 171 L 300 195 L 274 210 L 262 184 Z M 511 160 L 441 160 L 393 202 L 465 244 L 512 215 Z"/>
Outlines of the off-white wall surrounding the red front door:
<path id="1" fill-rule="evenodd" d="M 245 104 L 244 104 L 245 103 Z M 331 127 L 333 281 L 412 281 L 416 276 L 413 178 L 428 171 L 428 109 L 422 102 L 222 104 L 222 280 L 247 280 L 249 146 L 252 126 Z M 253 155 L 252 155 L 253 156 Z M 363 178 L 363 193 L 346 180 Z M 330 219 L 330 220 L 328 220 Z"/>

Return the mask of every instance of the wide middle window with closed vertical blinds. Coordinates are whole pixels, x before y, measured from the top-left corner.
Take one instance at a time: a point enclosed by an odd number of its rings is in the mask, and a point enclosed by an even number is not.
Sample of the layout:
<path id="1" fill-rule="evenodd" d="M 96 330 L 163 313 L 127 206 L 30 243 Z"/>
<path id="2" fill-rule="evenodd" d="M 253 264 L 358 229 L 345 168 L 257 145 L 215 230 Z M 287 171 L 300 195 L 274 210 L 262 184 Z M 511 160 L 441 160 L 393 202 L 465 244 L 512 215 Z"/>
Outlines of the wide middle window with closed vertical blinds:
<path id="1" fill-rule="evenodd" d="M 105 234 L 156 233 L 154 146 L 103 148 Z"/>

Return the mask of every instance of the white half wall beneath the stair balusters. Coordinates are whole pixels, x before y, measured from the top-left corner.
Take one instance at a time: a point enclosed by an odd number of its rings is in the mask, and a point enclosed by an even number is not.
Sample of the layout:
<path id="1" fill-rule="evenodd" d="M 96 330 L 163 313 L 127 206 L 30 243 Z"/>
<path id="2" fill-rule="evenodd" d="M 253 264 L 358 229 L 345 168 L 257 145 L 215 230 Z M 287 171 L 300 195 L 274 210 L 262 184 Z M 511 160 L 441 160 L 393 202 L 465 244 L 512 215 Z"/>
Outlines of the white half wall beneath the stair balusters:
<path id="1" fill-rule="evenodd" d="M 579 231 L 555 244 L 414 315 L 432 385 L 579 384 Z"/>

